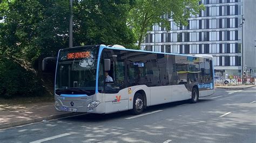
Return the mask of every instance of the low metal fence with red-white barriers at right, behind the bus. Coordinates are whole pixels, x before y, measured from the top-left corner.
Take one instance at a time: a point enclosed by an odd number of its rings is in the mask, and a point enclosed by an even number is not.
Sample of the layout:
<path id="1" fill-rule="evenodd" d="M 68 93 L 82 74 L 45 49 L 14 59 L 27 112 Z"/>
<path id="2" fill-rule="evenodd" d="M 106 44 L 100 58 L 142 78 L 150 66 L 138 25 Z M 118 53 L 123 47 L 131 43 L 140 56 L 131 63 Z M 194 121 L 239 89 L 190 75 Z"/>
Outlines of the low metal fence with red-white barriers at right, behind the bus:
<path id="1" fill-rule="evenodd" d="M 215 85 L 254 85 L 254 77 L 214 79 Z"/>

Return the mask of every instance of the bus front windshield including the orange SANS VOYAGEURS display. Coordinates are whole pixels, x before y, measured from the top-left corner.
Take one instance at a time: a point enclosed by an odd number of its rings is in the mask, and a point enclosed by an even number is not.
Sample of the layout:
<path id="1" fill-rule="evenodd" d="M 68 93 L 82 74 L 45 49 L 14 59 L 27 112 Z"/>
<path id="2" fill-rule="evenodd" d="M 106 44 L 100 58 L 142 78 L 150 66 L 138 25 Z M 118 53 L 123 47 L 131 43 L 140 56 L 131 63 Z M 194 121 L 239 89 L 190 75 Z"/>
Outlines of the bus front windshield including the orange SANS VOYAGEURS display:
<path id="1" fill-rule="evenodd" d="M 60 51 L 56 71 L 56 94 L 95 94 L 97 48 Z"/>

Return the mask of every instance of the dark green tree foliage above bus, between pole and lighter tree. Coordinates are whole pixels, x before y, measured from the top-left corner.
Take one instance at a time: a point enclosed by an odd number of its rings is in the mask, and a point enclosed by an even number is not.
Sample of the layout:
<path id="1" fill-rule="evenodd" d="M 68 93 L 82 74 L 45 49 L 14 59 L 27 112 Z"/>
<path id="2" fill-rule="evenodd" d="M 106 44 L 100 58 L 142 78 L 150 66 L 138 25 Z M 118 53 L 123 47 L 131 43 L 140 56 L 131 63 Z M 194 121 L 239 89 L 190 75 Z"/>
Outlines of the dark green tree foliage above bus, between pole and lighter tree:
<path id="1" fill-rule="evenodd" d="M 126 25 L 128 9 L 127 0 L 74 3 L 74 45 L 119 44 L 132 47 L 135 39 Z"/>

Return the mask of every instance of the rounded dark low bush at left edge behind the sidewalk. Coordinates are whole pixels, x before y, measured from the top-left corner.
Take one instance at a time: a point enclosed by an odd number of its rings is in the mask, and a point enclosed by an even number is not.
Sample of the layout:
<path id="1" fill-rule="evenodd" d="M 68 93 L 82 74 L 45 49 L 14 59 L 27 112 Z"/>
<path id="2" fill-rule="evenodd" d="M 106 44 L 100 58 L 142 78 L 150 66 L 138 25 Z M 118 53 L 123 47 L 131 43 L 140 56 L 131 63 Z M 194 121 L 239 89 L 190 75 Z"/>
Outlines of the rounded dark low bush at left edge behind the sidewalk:
<path id="1" fill-rule="evenodd" d="M 38 96 L 43 93 L 36 73 L 22 67 L 18 61 L 0 56 L 0 97 Z"/>

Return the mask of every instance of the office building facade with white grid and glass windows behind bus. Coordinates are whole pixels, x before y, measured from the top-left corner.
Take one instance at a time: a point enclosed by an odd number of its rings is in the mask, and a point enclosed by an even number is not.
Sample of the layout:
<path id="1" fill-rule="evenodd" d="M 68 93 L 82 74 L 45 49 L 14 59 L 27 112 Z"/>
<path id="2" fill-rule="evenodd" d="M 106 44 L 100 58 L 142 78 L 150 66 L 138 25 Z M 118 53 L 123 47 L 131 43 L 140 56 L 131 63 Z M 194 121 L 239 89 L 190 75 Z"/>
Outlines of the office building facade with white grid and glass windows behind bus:
<path id="1" fill-rule="evenodd" d="M 247 0 L 246 0 L 247 1 Z M 253 1 L 253 0 L 248 0 Z M 142 44 L 142 50 L 213 55 L 215 76 L 241 76 L 242 18 L 241 0 L 202 0 L 198 16 L 191 16 L 187 26 L 178 26 L 169 15 L 171 31 L 154 25 Z M 255 28 L 255 27 L 254 27 Z M 255 53 L 255 52 L 254 52 Z"/>

